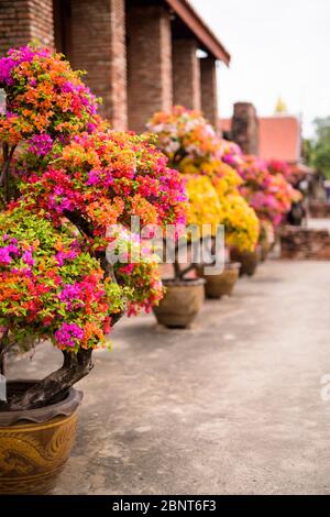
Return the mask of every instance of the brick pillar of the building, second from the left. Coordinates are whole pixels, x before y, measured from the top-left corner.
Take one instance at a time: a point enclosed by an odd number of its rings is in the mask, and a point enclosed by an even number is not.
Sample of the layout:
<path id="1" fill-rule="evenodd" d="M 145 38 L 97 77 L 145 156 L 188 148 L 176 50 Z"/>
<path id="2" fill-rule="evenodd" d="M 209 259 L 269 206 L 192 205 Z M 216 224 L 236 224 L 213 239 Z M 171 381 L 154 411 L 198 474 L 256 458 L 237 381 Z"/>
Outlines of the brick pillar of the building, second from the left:
<path id="1" fill-rule="evenodd" d="M 70 58 L 88 73 L 86 82 L 103 99 L 100 112 L 113 129 L 127 129 L 124 0 L 72 0 Z"/>

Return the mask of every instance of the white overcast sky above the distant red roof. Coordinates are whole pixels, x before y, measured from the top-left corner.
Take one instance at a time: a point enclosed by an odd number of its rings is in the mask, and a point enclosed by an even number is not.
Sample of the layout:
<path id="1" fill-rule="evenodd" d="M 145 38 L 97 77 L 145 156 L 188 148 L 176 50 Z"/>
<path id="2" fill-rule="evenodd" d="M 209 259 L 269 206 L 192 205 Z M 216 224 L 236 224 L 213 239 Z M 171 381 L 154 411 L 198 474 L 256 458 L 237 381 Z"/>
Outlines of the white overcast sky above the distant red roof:
<path id="1" fill-rule="evenodd" d="M 191 3 L 232 56 L 218 70 L 220 114 L 244 100 L 270 116 L 280 95 L 310 136 L 314 119 L 330 116 L 330 0 Z"/>

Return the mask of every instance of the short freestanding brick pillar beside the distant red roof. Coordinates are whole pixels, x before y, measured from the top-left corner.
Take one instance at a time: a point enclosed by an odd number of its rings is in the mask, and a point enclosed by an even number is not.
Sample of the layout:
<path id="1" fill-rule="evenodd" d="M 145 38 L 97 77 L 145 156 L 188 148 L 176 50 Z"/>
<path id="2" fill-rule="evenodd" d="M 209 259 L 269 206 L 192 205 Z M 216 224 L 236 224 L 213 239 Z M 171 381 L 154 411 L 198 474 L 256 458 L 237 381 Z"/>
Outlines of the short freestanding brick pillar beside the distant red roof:
<path id="1" fill-rule="evenodd" d="M 258 120 L 250 102 L 237 102 L 232 119 L 232 140 L 244 154 L 258 154 Z"/>

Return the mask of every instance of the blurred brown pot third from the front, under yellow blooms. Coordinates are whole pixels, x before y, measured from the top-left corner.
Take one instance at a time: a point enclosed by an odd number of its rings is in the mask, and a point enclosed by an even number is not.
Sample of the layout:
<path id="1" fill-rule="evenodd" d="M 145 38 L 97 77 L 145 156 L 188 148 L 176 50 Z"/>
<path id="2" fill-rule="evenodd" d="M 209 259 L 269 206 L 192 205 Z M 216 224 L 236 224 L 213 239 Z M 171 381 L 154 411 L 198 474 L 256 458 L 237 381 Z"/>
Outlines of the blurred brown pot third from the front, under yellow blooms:
<path id="1" fill-rule="evenodd" d="M 205 275 L 204 267 L 196 268 L 197 276 L 205 278 L 205 294 L 207 298 L 221 298 L 221 296 L 230 296 L 233 287 L 239 278 L 241 264 L 238 262 L 229 262 L 224 265 L 222 273 L 216 275 Z"/>

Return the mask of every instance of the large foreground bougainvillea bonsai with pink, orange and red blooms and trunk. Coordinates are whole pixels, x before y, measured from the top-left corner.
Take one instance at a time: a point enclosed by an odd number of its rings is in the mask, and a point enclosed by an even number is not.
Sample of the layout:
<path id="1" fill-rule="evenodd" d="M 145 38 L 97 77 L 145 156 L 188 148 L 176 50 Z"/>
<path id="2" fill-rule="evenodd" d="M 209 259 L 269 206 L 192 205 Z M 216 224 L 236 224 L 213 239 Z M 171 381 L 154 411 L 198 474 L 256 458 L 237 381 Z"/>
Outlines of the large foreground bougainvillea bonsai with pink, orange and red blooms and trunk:
<path id="1" fill-rule="evenodd" d="M 108 129 L 62 55 L 10 51 L 0 88 L 0 360 L 3 367 L 12 346 L 46 339 L 64 355 L 59 370 L 8 402 L 19 410 L 63 396 L 127 308 L 162 298 L 157 260 L 131 233 L 131 217 L 184 222 L 185 193 L 145 139 Z"/>

